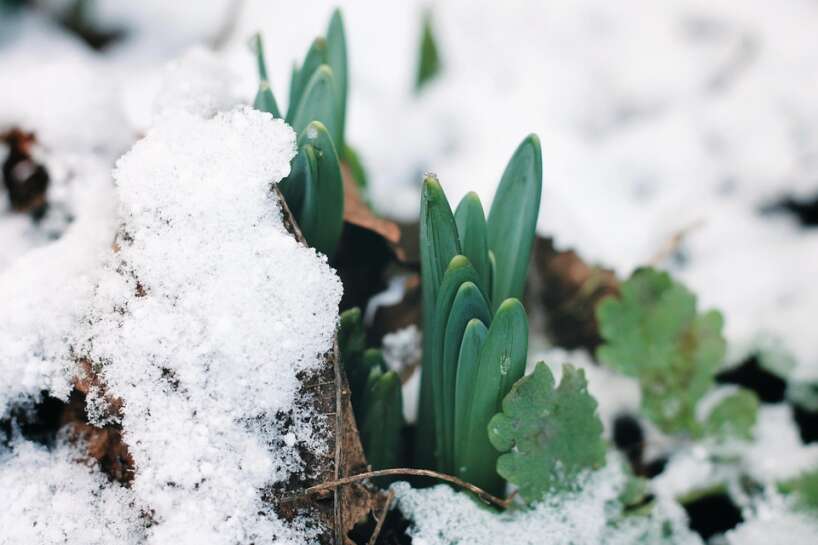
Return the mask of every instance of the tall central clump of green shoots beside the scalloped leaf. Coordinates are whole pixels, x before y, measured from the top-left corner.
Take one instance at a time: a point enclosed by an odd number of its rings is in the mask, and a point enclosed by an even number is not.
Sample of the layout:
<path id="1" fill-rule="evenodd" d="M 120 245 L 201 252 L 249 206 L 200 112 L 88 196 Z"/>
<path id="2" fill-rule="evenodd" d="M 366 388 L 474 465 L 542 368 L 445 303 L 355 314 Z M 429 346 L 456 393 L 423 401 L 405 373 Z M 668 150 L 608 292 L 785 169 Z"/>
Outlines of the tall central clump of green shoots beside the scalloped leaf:
<path id="1" fill-rule="evenodd" d="M 539 140 L 527 137 L 503 173 L 488 218 L 466 195 L 452 213 L 434 176 L 420 217 L 423 374 L 416 463 L 502 493 L 489 420 L 522 377 L 525 287 L 542 188 Z"/>

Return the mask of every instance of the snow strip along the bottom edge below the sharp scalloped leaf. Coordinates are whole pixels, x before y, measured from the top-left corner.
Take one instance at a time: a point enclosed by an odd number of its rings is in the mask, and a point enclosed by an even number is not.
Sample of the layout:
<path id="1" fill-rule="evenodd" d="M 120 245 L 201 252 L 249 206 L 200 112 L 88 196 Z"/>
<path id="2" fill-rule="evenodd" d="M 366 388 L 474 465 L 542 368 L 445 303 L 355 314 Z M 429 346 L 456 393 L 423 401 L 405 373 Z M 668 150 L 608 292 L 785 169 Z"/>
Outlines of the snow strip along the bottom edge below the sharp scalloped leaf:
<path id="1" fill-rule="evenodd" d="M 406 483 L 396 483 L 392 489 L 397 508 L 412 523 L 412 543 L 420 545 L 539 545 L 544 539 L 554 545 L 702 543 L 687 529 L 684 512 L 678 506 L 659 503 L 646 517 L 623 517 L 612 507 L 625 485 L 620 464 L 612 455 L 605 468 L 586 476 L 579 493 L 546 499 L 530 510 L 500 514 L 446 485 L 412 489 Z M 442 505 L 446 508 L 441 509 Z"/>

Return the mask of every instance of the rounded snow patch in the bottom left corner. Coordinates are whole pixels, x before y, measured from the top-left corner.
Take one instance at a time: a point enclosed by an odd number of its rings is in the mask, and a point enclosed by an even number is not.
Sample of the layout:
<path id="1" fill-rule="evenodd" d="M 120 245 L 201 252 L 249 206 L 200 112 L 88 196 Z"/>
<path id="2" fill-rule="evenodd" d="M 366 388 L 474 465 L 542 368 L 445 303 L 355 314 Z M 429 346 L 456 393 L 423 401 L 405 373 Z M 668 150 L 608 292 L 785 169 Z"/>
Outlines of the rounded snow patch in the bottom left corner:
<path id="1" fill-rule="evenodd" d="M 0 447 L 0 544 L 137 545 L 144 520 L 133 494 L 95 468 L 79 449 L 48 450 L 18 439 Z"/>

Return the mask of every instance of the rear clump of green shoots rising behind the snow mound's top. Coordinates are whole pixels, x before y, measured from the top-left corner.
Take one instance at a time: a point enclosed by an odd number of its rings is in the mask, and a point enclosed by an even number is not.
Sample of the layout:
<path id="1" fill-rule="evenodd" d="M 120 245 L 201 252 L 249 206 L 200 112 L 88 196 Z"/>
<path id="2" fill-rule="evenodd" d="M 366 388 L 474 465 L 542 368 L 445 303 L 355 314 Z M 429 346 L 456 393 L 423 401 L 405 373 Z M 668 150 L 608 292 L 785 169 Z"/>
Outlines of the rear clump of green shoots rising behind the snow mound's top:
<path id="1" fill-rule="evenodd" d="M 255 108 L 281 117 L 273 95 L 260 36 L 253 40 L 259 72 Z M 348 93 L 347 47 L 339 11 L 327 37 L 310 46 L 294 67 L 285 120 L 298 135 L 290 176 L 280 184 L 287 205 L 310 246 L 332 257 L 343 227 L 344 192 L 339 153 L 344 142 Z"/>

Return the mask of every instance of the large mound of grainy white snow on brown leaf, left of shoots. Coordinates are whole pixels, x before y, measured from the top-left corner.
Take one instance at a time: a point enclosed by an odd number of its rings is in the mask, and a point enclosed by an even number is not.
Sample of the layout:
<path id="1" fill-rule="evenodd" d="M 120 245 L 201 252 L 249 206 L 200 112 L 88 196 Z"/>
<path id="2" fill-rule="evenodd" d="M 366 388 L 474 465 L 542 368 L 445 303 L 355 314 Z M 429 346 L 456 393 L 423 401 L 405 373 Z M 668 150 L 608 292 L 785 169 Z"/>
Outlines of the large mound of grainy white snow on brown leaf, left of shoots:
<path id="1" fill-rule="evenodd" d="M 119 251 L 78 352 L 124 404 L 147 543 L 302 542 L 262 489 L 304 473 L 296 447 L 326 448 L 322 420 L 294 406 L 297 376 L 332 348 L 340 281 L 285 231 L 269 192 L 293 131 L 246 107 L 187 106 L 117 163 Z"/>

